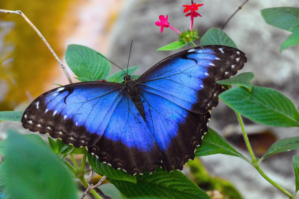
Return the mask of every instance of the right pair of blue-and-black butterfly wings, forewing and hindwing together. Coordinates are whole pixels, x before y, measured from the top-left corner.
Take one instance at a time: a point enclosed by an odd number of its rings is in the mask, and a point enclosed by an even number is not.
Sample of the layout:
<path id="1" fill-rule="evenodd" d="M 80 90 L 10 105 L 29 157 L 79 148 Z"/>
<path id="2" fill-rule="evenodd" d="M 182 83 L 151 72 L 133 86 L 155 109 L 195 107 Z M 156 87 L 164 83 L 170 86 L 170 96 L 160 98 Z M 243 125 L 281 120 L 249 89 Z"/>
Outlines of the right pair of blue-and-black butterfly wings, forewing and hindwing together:
<path id="1" fill-rule="evenodd" d="M 176 53 L 137 79 L 146 123 L 168 171 L 182 169 L 194 158 L 207 132 L 208 111 L 218 104 L 223 91 L 216 81 L 235 75 L 246 61 L 238 49 L 203 46 Z"/>

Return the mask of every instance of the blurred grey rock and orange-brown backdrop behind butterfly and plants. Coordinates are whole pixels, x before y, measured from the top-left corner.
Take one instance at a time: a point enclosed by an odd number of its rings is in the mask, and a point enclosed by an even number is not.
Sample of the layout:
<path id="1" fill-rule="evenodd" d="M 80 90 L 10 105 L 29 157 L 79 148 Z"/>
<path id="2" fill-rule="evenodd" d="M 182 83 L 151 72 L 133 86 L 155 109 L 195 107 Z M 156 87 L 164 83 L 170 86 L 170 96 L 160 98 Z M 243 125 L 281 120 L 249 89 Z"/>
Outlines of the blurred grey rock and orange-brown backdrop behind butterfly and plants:
<path id="1" fill-rule="evenodd" d="M 225 21 L 244 2 L 243 0 L 201 0 L 194 20 L 194 29 L 202 36 L 209 28 L 221 28 Z M 159 15 L 168 15 L 168 22 L 177 30 L 190 28 L 190 17 L 185 17 L 182 5 L 190 1 L 159 0 L 1 0 L 0 9 L 21 10 L 39 29 L 61 61 L 68 45 L 86 45 L 103 53 L 112 62 L 125 68 L 133 40 L 129 66 L 140 65 L 135 74 L 142 74 L 163 58 L 181 51 L 156 51 L 174 42 L 178 33 L 170 28 L 155 26 Z M 255 74 L 254 85 L 277 89 L 299 107 L 299 47 L 279 52 L 290 32 L 272 27 L 263 20 L 260 10 L 269 7 L 299 7 L 298 0 L 250 0 L 224 28 L 248 62 L 242 72 Z M 195 42 L 199 45 L 199 42 Z M 189 46 L 191 48 L 191 46 Z M 66 64 L 65 64 L 66 65 Z M 71 77 L 74 74 L 71 73 Z M 112 66 L 112 73 L 118 71 Z M 76 82 L 75 79 L 73 79 Z M 0 13 L 0 111 L 22 111 L 40 94 L 68 84 L 63 71 L 36 32 L 19 15 Z M 272 128 L 244 118 L 245 128 L 257 156 L 262 156 L 274 143 L 284 137 L 298 136 L 298 128 Z M 212 111 L 210 126 L 245 156 L 245 144 L 237 118 L 222 102 Z M 29 131 L 20 123 L 1 122 L 0 140 L 7 128 Z M 269 157 L 262 169 L 270 178 L 293 193 L 295 177 L 290 151 Z M 237 157 L 210 155 L 200 158 L 210 176 L 227 179 L 246 199 L 286 198 L 270 185 L 247 162 Z M 188 174 L 190 169 L 184 169 Z M 191 174 L 190 174 L 191 175 Z"/>

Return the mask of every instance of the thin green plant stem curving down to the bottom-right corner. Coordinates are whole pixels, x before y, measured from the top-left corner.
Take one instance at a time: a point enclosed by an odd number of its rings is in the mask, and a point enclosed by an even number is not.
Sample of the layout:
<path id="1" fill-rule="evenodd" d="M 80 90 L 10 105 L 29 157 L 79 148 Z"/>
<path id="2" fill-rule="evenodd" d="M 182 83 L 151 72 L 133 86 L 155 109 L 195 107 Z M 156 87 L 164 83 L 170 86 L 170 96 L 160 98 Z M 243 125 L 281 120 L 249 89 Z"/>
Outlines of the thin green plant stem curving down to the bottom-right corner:
<path id="1" fill-rule="evenodd" d="M 254 166 L 255 169 L 257 169 L 257 171 L 269 182 L 271 183 L 273 186 L 275 186 L 277 189 L 279 189 L 281 192 L 283 192 L 285 195 L 287 195 L 289 198 L 292 198 L 292 199 L 295 199 L 296 197 L 293 196 L 290 192 L 288 192 L 286 189 L 282 188 L 280 185 L 278 185 L 276 182 L 274 182 L 273 180 L 271 180 L 264 172 L 263 170 L 260 168 L 259 166 L 259 162 L 257 162 L 257 159 L 255 158 L 254 156 L 254 153 L 253 153 L 253 150 L 250 146 L 250 142 L 249 142 L 249 139 L 248 139 L 248 136 L 247 136 L 247 133 L 245 131 L 245 128 L 244 128 L 244 123 L 242 121 L 242 117 L 241 115 L 237 113 L 237 117 L 238 117 L 238 120 L 239 120 L 239 123 L 240 123 L 240 126 L 242 128 L 242 132 L 243 132 L 243 136 L 244 136 L 244 140 L 245 140 L 245 143 L 246 143 L 246 146 L 248 148 L 248 151 L 251 155 L 251 158 L 252 158 L 252 163 L 251 165 Z"/>

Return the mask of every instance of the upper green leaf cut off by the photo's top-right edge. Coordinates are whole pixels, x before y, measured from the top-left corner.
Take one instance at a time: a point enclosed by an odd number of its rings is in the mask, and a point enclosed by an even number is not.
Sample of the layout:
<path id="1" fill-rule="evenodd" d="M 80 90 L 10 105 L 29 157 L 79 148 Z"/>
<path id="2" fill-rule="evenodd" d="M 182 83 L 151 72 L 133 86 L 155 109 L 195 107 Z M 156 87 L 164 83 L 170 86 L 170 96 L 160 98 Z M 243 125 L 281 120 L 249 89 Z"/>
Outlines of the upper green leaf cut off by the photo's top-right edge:
<path id="1" fill-rule="evenodd" d="M 298 7 L 272 7 L 261 10 L 261 14 L 267 24 L 294 32 L 298 30 Z"/>

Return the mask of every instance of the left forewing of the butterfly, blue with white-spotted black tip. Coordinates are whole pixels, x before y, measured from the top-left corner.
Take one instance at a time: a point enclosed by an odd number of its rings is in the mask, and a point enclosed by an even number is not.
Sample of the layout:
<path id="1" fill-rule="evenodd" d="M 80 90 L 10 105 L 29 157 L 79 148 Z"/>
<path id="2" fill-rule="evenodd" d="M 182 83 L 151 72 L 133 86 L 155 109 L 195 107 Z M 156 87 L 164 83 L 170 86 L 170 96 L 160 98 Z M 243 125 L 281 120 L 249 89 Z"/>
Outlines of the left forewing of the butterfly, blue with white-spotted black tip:
<path id="1" fill-rule="evenodd" d="M 55 88 L 29 105 L 22 125 L 75 147 L 93 146 L 102 137 L 122 91 L 123 85 L 107 82 Z"/>

